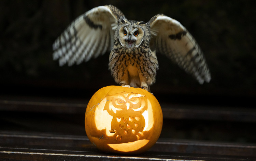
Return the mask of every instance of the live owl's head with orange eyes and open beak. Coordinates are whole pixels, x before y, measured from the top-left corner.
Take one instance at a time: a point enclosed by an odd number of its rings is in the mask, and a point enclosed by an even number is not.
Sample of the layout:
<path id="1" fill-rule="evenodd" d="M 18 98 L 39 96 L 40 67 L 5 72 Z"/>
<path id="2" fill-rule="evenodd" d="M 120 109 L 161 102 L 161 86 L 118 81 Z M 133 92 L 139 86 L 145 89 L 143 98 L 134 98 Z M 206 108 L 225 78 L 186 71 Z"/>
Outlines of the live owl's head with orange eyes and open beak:
<path id="1" fill-rule="evenodd" d="M 121 19 L 116 32 L 122 46 L 131 49 L 138 48 L 142 44 L 149 30 L 145 22 Z"/>

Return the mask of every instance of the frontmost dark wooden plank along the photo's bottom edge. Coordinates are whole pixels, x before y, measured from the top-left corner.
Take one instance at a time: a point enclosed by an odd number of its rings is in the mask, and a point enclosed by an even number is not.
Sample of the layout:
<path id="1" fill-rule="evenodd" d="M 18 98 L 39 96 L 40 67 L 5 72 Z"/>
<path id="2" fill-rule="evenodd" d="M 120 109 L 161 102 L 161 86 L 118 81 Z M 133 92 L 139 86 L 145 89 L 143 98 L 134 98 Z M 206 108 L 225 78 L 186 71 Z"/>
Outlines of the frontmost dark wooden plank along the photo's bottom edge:
<path id="1" fill-rule="evenodd" d="M 97 150 L 87 150 L 85 148 L 61 147 L 0 147 L 1 160 L 167 160 L 167 161 L 252 161 L 254 157 L 224 156 L 224 155 L 204 155 L 204 154 L 181 154 L 181 153 L 155 153 L 147 151 L 140 155 L 120 155 L 104 153 Z"/>

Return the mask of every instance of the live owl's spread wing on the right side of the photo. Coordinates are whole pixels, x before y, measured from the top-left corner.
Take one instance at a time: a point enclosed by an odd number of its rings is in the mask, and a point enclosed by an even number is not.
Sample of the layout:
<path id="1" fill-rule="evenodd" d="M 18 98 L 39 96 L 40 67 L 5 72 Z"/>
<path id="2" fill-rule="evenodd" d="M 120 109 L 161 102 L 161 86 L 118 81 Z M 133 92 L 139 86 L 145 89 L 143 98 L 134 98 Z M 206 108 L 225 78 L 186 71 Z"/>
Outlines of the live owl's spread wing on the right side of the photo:
<path id="1" fill-rule="evenodd" d="M 210 82 L 211 74 L 196 40 L 178 21 L 159 14 L 147 22 L 151 29 L 150 48 L 165 54 L 200 84 Z"/>

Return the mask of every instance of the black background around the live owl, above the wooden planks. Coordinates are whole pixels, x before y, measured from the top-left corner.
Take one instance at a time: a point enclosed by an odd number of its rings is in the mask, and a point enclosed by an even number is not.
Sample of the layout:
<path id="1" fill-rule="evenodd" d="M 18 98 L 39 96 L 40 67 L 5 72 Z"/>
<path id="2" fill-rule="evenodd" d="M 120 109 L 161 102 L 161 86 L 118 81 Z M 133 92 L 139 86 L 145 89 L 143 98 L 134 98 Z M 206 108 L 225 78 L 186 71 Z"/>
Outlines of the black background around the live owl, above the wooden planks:
<path id="1" fill-rule="evenodd" d="M 165 56 L 158 54 L 160 69 L 151 91 L 160 104 L 255 108 L 255 0 L 1 0 L 0 95 L 87 101 L 98 89 L 116 85 L 108 70 L 109 53 L 72 67 L 59 67 L 58 61 L 52 58 L 54 40 L 72 20 L 93 7 L 105 4 L 115 5 L 130 20 L 147 22 L 154 15 L 163 13 L 181 22 L 199 43 L 211 71 L 211 82 L 200 85 Z M 188 128 L 199 124 L 199 127 Z M 194 130 L 197 133 L 198 129 L 207 126 L 213 127 L 206 128 L 208 134 L 219 128 L 225 131 L 229 126 L 255 132 L 252 127 L 255 123 L 231 126 L 229 122 L 182 120 L 164 124 L 167 128 L 175 126 L 179 126 L 177 131 L 186 130 L 171 137 L 182 139 L 187 138 L 189 132 Z M 250 132 L 244 131 L 247 140 L 244 133 L 240 135 L 238 132 L 238 137 L 229 141 L 256 142 Z M 225 133 L 223 140 L 228 140 L 229 131 Z M 195 135 L 194 139 L 207 138 L 203 134 Z"/>

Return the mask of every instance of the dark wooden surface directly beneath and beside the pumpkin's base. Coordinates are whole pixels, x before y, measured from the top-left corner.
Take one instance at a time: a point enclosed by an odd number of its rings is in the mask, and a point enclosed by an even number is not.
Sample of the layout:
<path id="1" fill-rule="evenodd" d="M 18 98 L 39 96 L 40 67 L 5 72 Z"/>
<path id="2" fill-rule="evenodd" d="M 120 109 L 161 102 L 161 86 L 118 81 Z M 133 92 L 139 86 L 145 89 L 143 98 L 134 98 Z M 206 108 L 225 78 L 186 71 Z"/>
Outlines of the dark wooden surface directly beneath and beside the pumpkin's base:
<path id="1" fill-rule="evenodd" d="M 1 131 L 0 159 L 22 160 L 255 160 L 252 144 L 159 139 L 141 155 L 99 151 L 86 136 Z"/>

